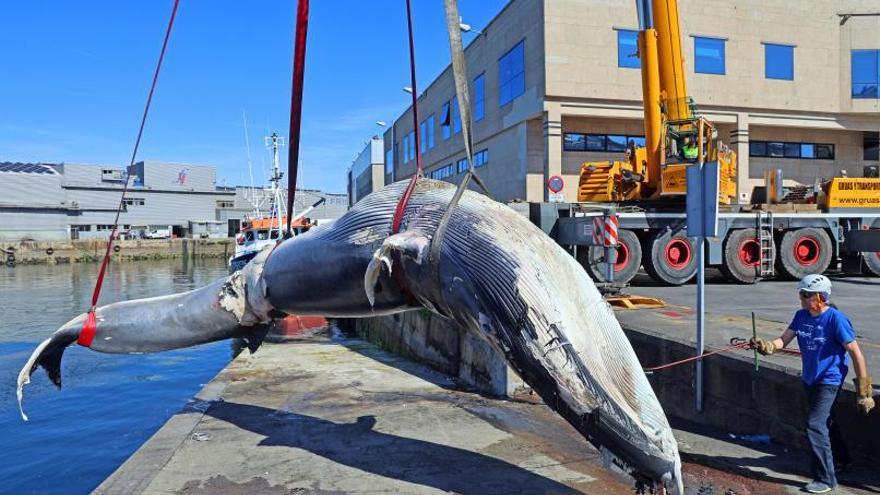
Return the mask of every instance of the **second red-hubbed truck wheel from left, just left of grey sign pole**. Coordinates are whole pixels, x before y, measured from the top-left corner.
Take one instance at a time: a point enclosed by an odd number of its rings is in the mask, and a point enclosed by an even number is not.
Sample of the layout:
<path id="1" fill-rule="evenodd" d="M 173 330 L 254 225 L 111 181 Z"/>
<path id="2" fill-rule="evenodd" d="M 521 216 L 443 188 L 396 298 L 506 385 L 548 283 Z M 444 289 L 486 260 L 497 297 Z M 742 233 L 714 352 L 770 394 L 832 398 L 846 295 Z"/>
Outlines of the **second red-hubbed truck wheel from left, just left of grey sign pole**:
<path id="1" fill-rule="evenodd" d="M 642 249 L 642 266 L 663 285 L 682 285 L 697 273 L 697 248 L 684 230 L 657 232 Z"/>

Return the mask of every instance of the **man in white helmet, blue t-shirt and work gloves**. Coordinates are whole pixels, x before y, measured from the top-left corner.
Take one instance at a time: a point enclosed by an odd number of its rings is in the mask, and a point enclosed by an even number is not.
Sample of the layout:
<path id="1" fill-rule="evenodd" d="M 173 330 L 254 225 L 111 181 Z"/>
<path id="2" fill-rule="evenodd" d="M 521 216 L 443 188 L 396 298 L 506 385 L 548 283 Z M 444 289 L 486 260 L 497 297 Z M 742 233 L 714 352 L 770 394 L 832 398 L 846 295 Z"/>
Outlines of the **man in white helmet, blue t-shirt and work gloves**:
<path id="1" fill-rule="evenodd" d="M 798 293 L 802 309 L 795 313 L 782 336 L 769 341 L 753 338 L 750 342 L 759 353 L 768 356 L 797 336 L 803 367 L 801 378 L 809 406 L 806 430 L 814 478 L 804 490 L 827 493 L 837 486 L 835 456 L 840 464 L 849 463 L 831 414 L 849 372 L 847 353 L 855 368 L 857 407 L 863 414 L 874 408 L 871 377 L 849 318 L 829 305 L 831 281 L 828 277 L 807 275 L 798 284 Z"/>

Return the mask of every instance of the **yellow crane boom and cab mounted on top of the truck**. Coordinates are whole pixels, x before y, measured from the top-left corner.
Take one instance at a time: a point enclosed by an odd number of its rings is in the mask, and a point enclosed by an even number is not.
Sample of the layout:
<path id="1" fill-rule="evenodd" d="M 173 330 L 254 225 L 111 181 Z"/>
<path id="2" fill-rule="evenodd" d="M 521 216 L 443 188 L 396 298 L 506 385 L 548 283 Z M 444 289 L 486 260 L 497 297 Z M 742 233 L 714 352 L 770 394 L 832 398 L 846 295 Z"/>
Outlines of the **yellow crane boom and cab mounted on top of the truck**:
<path id="1" fill-rule="evenodd" d="M 687 94 L 678 2 L 638 0 L 637 10 L 645 146 L 631 145 L 625 161 L 583 163 L 578 201 L 682 200 L 686 167 L 717 161 L 718 199 L 729 204 L 736 198 L 736 153 L 718 139 L 712 122 L 694 112 Z"/>

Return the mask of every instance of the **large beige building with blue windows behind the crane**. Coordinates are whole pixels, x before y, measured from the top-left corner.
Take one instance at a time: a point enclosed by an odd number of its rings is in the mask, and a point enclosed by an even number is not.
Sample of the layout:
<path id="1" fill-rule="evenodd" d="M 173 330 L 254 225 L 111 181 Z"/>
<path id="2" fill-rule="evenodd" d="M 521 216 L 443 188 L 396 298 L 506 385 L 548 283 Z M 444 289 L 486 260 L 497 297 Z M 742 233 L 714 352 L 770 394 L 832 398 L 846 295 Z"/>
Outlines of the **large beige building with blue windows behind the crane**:
<path id="1" fill-rule="evenodd" d="M 679 8 L 688 92 L 737 151 L 741 202 L 768 169 L 812 184 L 880 165 L 880 16 L 848 16 L 880 4 L 680 0 Z M 621 146 L 642 138 L 629 44 L 637 29 L 635 2 L 512 0 L 469 42 L 475 165 L 496 199 L 544 201 L 547 179 L 561 175 L 575 201 L 583 162 L 623 159 Z M 419 95 L 420 150 L 411 108 L 385 133 L 384 183 L 410 177 L 416 153 L 427 176 L 460 180 L 454 96 L 449 67 Z"/>

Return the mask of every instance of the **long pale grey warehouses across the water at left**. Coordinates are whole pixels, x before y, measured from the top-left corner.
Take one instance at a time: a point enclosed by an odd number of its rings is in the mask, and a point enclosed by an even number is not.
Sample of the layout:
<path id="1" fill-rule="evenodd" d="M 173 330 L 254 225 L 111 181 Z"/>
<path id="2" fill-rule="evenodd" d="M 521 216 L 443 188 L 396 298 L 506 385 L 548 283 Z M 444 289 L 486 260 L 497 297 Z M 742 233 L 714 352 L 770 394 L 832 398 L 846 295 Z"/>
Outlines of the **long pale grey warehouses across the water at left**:
<path id="1" fill-rule="evenodd" d="M 0 162 L 0 239 L 106 239 L 113 229 L 124 169 L 74 163 Z M 217 186 L 212 166 L 137 162 L 120 215 L 132 238 L 232 237 L 255 209 L 270 207 L 265 189 Z M 298 190 L 295 210 L 319 198 L 318 224 L 345 212 L 345 194 Z"/>

